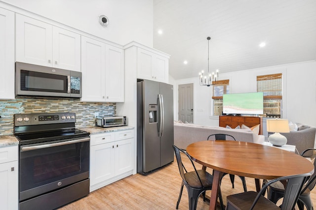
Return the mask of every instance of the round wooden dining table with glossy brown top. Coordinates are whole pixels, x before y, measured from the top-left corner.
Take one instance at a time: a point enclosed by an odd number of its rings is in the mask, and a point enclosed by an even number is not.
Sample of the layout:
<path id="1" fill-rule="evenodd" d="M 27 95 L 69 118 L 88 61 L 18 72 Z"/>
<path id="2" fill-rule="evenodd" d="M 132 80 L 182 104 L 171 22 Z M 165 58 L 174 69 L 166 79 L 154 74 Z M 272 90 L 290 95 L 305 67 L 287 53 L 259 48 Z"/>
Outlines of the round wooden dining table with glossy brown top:
<path id="1" fill-rule="evenodd" d="M 213 169 L 209 210 L 216 209 L 223 173 L 254 178 L 257 191 L 260 190 L 260 179 L 314 173 L 312 162 L 298 154 L 249 142 L 200 141 L 189 145 L 187 152 L 197 163 Z"/>

